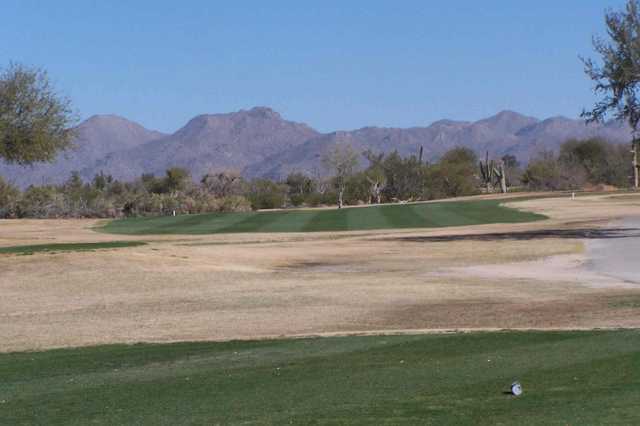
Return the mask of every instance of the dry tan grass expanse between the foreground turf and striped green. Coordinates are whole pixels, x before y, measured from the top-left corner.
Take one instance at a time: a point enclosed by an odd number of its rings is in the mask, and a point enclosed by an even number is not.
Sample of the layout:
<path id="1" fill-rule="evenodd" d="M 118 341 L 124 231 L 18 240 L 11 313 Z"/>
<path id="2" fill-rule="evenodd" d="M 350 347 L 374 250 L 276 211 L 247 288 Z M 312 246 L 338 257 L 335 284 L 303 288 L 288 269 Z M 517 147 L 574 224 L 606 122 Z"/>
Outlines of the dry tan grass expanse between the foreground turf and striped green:
<path id="1" fill-rule="evenodd" d="M 126 237 L 92 220 L 0 221 L 0 246 L 144 240 L 0 256 L 0 351 L 336 333 L 639 327 L 640 286 L 587 265 L 640 195 L 518 202 L 530 224 Z M 606 263 L 606 262 L 605 262 Z"/>

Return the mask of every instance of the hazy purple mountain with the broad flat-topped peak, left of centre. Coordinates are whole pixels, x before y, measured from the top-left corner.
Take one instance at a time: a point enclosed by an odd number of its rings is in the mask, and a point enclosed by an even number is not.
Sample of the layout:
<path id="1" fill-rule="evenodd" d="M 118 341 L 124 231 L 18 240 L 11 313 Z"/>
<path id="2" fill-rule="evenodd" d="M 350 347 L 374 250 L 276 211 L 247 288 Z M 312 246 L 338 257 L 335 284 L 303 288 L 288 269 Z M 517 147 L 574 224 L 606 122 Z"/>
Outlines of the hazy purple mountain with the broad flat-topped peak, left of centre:
<path id="1" fill-rule="evenodd" d="M 316 136 L 318 132 L 309 126 L 286 121 L 264 107 L 200 115 L 170 136 L 107 155 L 82 174 L 90 176 L 103 170 L 130 180 L 142 173 L 161 175 L 167 168 L 178 166 L 199 178 L 211 170 L 241 171 Z"/>

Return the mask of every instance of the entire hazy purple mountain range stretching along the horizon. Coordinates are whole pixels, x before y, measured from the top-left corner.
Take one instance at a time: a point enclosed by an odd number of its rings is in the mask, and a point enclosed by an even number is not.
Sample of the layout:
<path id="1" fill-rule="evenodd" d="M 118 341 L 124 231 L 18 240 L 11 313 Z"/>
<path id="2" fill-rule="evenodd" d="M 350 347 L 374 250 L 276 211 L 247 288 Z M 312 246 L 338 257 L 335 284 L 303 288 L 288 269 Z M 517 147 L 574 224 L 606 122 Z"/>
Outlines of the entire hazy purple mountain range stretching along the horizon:
<path id="1" fill-rule="evenodd" d="M 397 150 L 403 156 L 417 154 L 422 147 L 428 161 L 463 146 L 478 154 L 488 151 L 493 157 L 512 154 L 526 163 L 537 153 L 557 150 L 567 139 L 592 136 L 624 143 L 631 133 L 614 121 L 587 125 L 566 117 L 539 120 L 513 111 L 475 122 L 440 120 L 425 127 L 364 127 L 331 133 L 285 120 L 266 107 L 199 115 L 173 134 L 148 130 L 115 115 L 97 115 L 76 128 L 74 149 L 61 153 L 53 163 L 27 167 L 0 163 L 0 176 L 24 188 L 62 183 L 72 171 L 85 180 L 100 172 L 132 180 L 142 173 L 162 175 L 173 166 L 187 168 L 196 179 L 222 170 L 272 179 L 291 172 L 325 175 L 322 158 L 338 144 L 349 144 L 358 152 Z M 364 165 L 364 157 L 361 161 Z"/>

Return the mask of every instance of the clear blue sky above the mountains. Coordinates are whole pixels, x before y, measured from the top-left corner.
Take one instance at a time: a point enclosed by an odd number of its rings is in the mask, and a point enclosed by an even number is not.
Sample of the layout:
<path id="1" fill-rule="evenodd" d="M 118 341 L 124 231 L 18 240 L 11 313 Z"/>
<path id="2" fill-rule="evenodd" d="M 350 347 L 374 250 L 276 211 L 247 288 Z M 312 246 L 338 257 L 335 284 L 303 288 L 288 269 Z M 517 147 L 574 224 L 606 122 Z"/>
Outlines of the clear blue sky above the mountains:
<path id="1" fill-rule="evenodd" d="M 3 0 L 0 66 L 41 66 L 81 118 L 162 131 L 271 106 L 322 131 L 576 117 L 578 56 L 623 0 Z"/>

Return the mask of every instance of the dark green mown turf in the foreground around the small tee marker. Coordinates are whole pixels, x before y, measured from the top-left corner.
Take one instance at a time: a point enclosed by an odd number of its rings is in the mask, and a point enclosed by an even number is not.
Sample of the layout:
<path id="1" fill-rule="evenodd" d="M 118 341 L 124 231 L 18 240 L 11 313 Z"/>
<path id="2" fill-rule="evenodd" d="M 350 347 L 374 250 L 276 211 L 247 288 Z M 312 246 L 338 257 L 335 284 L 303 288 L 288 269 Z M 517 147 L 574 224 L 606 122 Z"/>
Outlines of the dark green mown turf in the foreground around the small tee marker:
<path id="1" fill-rule="evenodd" d="M 519 380 L 524 395 L 505 392 Z M 0 355 L 0 424 L 640 424 L 640 332 L 102 346 Z"/>

